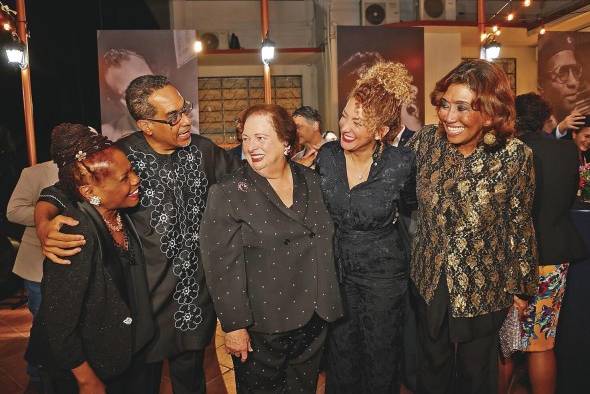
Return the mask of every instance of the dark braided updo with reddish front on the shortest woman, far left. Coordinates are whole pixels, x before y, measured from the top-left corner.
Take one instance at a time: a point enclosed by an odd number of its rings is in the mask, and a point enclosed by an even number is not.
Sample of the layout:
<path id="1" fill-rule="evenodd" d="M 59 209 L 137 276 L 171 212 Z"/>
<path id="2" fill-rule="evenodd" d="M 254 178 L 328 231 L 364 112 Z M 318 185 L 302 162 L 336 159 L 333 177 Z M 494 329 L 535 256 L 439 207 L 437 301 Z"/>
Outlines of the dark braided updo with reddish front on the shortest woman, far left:
<path id="1" fill-rule="evenodd" d="M 100 183 L 110 175 L 113 150 L 120 149 L 88 126 L 55 126 L 51 131 L 51 158 L 59 169 L 58 187 L 72 200 L 82 201 L 80 186 Z"/>

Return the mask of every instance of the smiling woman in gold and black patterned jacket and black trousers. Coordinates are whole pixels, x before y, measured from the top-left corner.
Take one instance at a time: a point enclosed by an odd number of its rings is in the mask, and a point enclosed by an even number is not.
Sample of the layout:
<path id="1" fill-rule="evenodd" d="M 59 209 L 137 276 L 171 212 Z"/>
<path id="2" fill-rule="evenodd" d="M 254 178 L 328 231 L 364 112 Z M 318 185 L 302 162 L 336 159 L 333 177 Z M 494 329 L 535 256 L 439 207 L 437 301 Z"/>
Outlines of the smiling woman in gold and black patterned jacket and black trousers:
<path id="1" fill-rule="evenodd" d="M 463 62 L 430 98 L 439 124 L 409 142 L 418 171 L 417 393 L 495 394 L 498 331 L 537 285 L 532 152 L 513 138 L 514 94 L 496 65 Z"/>

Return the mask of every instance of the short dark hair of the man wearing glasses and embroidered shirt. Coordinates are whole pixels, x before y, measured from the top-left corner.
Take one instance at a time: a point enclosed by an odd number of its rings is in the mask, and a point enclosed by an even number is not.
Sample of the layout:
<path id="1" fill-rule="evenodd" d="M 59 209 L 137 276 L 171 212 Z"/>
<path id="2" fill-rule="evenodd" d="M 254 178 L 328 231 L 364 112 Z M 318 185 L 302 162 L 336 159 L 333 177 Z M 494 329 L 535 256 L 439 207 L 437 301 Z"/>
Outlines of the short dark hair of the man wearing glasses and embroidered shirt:
<path id="1" fill-rule="evenodd" d="M 142 75 L 129 83 L 125 90 L 127 109 L 135 120 L 153 118 L 156 109 L 148 101 L 154 91 L 172 85 L 163 75 Z"/>

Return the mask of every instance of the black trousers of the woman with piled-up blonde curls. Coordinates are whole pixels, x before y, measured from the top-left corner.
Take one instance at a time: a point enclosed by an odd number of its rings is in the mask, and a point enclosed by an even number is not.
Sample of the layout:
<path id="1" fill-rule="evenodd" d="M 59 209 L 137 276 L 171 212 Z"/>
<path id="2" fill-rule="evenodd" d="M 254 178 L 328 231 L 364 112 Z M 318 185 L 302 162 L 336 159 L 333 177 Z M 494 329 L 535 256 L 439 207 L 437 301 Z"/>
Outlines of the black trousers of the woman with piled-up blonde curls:
<path id="1" fill-rule="evenodd" d="M 328 333 L 326 393 L 399 392 L 406 279 L 347 274 L 345 317 Z"/>

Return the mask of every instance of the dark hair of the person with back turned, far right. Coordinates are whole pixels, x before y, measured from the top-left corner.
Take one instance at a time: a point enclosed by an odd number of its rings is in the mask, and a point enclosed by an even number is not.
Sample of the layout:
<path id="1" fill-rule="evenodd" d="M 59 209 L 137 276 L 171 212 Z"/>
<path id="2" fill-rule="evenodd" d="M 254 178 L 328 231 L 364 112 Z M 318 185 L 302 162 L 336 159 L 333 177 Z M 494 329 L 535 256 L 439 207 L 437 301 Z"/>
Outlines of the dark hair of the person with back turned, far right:
<path id="1" fill-rule="evenodd" d="M 551 107 L 536 93 L 516 96 L 516 133 L 522 135 L 532 131 L 540 131 L 551 117 Z"/>

